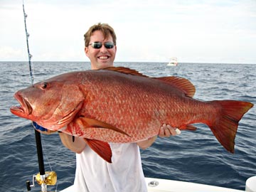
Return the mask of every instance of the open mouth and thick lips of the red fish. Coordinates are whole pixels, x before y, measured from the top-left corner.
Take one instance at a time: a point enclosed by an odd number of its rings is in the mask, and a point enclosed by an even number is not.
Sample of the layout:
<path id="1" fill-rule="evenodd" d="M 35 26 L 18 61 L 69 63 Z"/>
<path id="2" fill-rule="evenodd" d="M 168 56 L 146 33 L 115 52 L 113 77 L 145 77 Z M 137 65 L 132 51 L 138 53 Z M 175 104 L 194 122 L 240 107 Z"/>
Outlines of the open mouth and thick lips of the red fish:
<path id="1" fill-rule="evenodd" d="M 18 103 L 21 106 L 12 106 L 10 110 L 13 114 L 21 116 L 21 114 L 28 115 L 32 113 L 33 109 L 30 103 L 24 97 L 22 97 L 22 95 L 19 92 L 16 92 L 16 94 L 14 95 L 14 98 L 18 101 Z"/>

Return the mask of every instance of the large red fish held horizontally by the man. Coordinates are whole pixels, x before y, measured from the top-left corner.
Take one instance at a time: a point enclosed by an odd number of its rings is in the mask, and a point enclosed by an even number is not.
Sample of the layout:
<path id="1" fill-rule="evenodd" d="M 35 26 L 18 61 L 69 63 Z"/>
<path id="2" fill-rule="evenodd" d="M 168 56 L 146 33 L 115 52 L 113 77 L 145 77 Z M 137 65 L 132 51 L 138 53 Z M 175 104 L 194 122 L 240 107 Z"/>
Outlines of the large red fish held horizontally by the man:
<path id="1" fill-rule="evenodd" d="M 139 142 L 159 134 L 162 124 L 196 129 L 207 124 L 225 149 L 234 152 L 243 114 L 253 106 L 235 100 L 193 99 L 195 87 L 184 78 L 149 78 L 129 68 L 65 73 L 16 92 L 19 117 L 47 129 L 84 137 L 111 162 L 107 142 Z"/>

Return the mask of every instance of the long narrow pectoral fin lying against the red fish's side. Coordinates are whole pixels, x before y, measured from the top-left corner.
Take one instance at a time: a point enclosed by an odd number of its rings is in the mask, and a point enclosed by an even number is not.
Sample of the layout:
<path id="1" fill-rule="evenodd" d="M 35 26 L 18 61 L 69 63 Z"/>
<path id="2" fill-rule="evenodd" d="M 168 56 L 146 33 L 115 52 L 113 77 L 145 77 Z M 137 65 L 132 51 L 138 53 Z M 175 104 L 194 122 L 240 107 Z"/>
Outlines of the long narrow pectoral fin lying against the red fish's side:
<path id="1" fill-rule="evenodd" d="M 119 132 L 119 133 L 125 134 L 128 137 L 130 137 L 129 134 L 127 134 L 126 132 L 123 132 L 121 129 L 118 129 L 117 127 L 114 127 L 111 124 L 101 122 L 97 119 L 90 119 L 90 118 L 87 118 L 87 117 L 79 117 L 79 119 L 81 120 L 81 122 L 83 124 L 82 127 L 85 127 L 85 128 L 87 128 L 87 127 L 90 127 L 90 128 L 97 127 L 97 128 L 111 129 L 115 132 Z"/>

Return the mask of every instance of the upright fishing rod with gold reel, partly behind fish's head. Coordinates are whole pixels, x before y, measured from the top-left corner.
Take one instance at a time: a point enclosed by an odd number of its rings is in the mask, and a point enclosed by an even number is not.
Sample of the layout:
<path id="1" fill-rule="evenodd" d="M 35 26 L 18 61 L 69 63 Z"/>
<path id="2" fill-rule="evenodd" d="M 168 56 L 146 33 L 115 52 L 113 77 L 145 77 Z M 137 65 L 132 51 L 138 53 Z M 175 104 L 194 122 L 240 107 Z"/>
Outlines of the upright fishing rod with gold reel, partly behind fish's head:
<path id="1" fill-rule="evenodd" d="M 32 55 L 29 51 L 28 46 L 28 37 L 29 33 L 26 28 L 26 18 L 27 14 L 25 13 L 24 8 L 24 1 L 23 1 L 23 15 L 24 15 L 24 23 L 25 23 L 25 31 L 26 31 L 26 44 L 27 44 L 27 50 L 28 50 L 28 65 L 29 65 L 29 72 L 31 76 L 31 85 L 33 85 L 33 66 L 31 65 L 31 58 Z M 31 187 L 35 186 L 35 180 L 39 185 L 41 185 L 41 191 L 47 192 L 47 185 L 55 185 L 57 181 L 57 175 L 54 171 L 45 171 L 44 163 L 43 163 L 43 149 L 42 149 L 42 142 L 41 142 L 41 133 L 35 130 L 35 137 L 36 137 L 36 150 L 38 154 L 38 166 L 39 166 L 39 173 L 37 175 L 33 175 L 32 181 L 33 184 L 31 185 L 30 181 L 26 181 L 26 187 L 28 191 L 31 191 Z"/>

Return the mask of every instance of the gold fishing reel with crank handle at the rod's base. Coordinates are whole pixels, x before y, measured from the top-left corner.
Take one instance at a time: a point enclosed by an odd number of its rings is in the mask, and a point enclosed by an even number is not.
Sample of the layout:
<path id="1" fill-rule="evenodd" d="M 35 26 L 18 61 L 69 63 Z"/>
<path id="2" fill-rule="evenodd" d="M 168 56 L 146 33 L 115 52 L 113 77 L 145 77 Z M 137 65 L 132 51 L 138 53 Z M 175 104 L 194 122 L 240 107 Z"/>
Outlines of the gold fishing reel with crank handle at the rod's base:
<path id="1" fill-rule="evenodd" d="M 26 181 L 28 191 L 31 191 L 31 187 L 35 186 L 35 181 L 41 185 L 42 191 L 47 191 L 47 186 L 54 186 L 57 183 L 57 174 L 55 171 L 46 171 L 43 176 L 40 173 L 33 175 L 32 185 L 31 181 Z"/>

